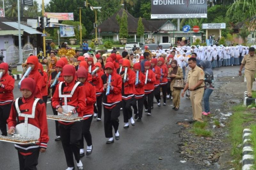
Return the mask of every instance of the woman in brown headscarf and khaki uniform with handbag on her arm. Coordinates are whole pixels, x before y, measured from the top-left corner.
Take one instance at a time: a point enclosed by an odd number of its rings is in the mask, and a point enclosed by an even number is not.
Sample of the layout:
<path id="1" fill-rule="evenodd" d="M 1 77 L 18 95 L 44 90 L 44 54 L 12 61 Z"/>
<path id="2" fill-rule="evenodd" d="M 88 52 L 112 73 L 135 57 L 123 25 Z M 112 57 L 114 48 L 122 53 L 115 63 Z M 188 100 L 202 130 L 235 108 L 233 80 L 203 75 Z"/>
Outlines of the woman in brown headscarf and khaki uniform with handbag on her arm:
<path id="1" fill-rule="evenodd" d="M 171 91 L 172 91 L 172 109 L 179 110 L 180 108 L 180 92 L 181 89 L 175 89 L 174 83 L 177 79 L 183 78 L 183 71 L 180 67 L 178 67 L 177 60 L 172 60 L 171 62 L 172 67 L 168 70 L 168 77 L 171 78 Z"/>

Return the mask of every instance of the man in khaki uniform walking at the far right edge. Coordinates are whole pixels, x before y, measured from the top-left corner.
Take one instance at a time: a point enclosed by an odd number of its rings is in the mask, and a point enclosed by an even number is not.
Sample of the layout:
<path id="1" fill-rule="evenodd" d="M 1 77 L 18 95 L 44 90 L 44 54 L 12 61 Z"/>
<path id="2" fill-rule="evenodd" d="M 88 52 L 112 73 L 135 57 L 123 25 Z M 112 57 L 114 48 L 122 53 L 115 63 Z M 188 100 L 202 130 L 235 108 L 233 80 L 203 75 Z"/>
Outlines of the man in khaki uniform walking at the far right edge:
<path id="1" fill-rule="evenodd" d="M 252 83 L 255 80 L 255 73 L 256 73 L 256 54 L 255 48 L 249 48 L 249 54 L 244 55 L 244 58 L 241 62 L 241 67 L 239 70 L 239 76 L 242 75 L 242 69 L 244 67 L 244 75 L 246 78 L 247 83 L 247 96 L 249 98 L 252 97 Z"/>

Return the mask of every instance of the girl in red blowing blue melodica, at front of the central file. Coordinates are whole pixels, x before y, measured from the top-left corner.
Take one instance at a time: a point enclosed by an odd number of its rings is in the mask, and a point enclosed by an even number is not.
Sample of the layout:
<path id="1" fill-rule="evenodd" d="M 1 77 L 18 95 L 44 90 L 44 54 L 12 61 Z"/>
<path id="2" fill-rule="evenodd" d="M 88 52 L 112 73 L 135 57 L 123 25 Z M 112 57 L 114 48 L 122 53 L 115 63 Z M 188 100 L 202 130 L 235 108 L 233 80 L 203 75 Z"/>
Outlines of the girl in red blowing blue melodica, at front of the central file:
<path id="1" fill-rule="evenodd" d="M 100 92 L 103 93 L 103 108 L 104 108 L 104 130 L 105 137 L 109 138 L 106 142 L 107 144 L 111 144 L 114 142 L 112 126 L 115 130 L 115 138 L 119 140 L 119 120 L 120 116 L 120 107 L 122 101 L 122 78 L 120 75 L 116 74 L 114 71 L 114 64 L 111 62 L 106 63 L 105 65 L 106 74 L 103 74 L 100 78 Z M 109 76 L 111 75 L 111 79 L 109 82 Z M 107 95 L 106 92 L 109 94 Z"/>

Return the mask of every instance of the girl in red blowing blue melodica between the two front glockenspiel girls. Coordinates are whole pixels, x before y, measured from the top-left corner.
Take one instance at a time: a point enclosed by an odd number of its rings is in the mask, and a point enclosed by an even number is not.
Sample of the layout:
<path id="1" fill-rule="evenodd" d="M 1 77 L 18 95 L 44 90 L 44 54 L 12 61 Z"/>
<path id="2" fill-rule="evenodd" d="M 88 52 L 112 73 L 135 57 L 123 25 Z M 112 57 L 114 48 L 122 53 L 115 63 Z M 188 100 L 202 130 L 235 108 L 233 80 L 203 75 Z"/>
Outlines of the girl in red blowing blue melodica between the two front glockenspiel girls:
<path id="1" fill-rule="evenodd" d="M 51 94 L 52 96 L 55 92 L 55 89 L 56 89 L 56 86 L 57 86 L 58 82 L 64 81 L 64 78 L 63 78 L 63 75 L 62 75 L 62 69 L 63 69 L 64 66 L 65 66 L 64 61 L 62 61 L 62 60 L 57 61 L 56 70 L 53 71 L 50 75 L 49 82 L 48 82 L 48 88 L 52 89 L 52 94 Z M 56 76 L 59 72 L 60 72 L 60 76 L 59 76 L 59 78 L 56 78 Z M 53 87 L 51 87 L 55 78 L 56 78 L 57 83 Z M 58 112 L 56 111 L 55 107 L 52 107 L 52 112 L 53 112 L 53 115 L 58 115 Z M 59 124 L 59 122 L 55 121 L 55 129 L 56 129 L 55 141 L 60 141 L 60 132 L 59 132 L 58 124 Z"/>

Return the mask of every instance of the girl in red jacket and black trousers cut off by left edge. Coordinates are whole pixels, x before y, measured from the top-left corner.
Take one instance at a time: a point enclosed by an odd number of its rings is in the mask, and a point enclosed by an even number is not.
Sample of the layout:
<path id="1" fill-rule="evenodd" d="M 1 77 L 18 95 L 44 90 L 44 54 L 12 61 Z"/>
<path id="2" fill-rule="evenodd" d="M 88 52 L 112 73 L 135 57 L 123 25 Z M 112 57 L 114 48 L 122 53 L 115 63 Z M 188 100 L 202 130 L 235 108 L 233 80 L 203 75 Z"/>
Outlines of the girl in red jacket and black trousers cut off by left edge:
<path id="1" fill-rule="evenodd" d="M 3 136 L 7 136 L 6 120 L 8 119 L 13 102 L 14 78 L 8 74 L 8 64 L 0 64 L 3 76 L 0 81 L 0 129 Z"/>

